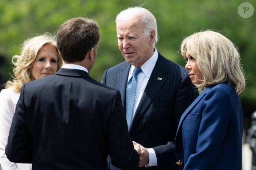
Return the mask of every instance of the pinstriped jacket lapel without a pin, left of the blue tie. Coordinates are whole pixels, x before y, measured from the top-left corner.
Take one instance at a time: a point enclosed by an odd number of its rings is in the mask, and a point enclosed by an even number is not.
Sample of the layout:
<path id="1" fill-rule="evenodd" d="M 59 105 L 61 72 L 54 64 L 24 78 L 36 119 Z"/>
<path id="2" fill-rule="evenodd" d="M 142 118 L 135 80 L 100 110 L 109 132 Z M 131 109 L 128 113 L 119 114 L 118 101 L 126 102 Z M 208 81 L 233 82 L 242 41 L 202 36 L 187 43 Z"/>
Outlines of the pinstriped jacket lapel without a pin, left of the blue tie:
<path id="1" fill-rule="evenodd" d="M 129 75 L 129 71 L 131 68 L 131 64 L 128 64 L 127 62 L 125 62 L 125 64 L 122 66 L 121 70 L 122 72 L 120 72 L 117 76 L 117 89 L 120 91 L 121 96 L 122 96 L 122 104 L 125 110 L 125 96 L 126 96 L 126 85 L 127 85 L 127 80 L 128 80 L 128 75 Z"/>

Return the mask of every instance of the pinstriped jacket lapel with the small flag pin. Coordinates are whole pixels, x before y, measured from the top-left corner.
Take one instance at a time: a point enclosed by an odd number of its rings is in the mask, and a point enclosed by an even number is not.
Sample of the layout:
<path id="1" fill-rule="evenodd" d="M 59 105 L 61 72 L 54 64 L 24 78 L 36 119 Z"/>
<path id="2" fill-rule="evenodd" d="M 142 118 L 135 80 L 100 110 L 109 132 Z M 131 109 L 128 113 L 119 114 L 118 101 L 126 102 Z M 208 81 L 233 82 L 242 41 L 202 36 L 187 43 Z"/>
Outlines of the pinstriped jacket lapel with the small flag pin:
<path id="1" fill-rule="evenodd" d="M 141 97 L 139 105 L 136 109 L 134 118 L 132 119 L 132 124 L 129 129 L 129 132 L 136 127 L 136 123 L 143 116 L 145 110 L 149 107 L 151 102 L 154 100 L 156 94 L 161 89 L 163 84 L 166 82 L 167 77 L 165 73 L 168 72 L 167 60 L 158 52 L 158 60 L 154 66 L 154 69 L 151 73 L 151 76 L 147 82 L 147 86 L 145 91 Z M 158 78 L 162 78 L 162 80 L 158 80 Z"/>

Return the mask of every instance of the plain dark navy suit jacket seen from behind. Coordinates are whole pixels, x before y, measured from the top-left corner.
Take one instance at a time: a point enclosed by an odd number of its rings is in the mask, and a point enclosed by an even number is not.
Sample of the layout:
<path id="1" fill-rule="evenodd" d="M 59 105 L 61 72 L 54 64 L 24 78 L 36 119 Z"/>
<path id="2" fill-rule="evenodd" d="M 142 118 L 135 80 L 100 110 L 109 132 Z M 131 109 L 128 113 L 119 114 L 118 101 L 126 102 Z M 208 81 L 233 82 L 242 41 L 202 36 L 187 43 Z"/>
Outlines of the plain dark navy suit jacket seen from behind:
<path id="1" fill-rule="evenodd" d="M 108 154 L 120 168 L 139 164 L 120 92 L 77 69 L 23 85 L 5 152 L 34 170 L 103 170 Z"/>

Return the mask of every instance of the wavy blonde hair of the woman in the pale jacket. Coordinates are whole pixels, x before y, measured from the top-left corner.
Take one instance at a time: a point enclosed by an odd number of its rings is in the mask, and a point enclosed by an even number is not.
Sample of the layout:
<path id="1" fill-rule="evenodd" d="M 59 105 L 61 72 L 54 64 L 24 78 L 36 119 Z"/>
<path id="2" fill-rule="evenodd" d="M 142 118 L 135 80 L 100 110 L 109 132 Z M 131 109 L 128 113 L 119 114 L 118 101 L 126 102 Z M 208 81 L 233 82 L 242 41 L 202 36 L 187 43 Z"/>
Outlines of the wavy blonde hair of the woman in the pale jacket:
<path id="1" fill-rule="evenodd" d="M 30 68 L 32 67 L 34 60 L 38 54 L 38 51 L 45 45 L 52 45 L 57 51 L 57 63 L 58 69 L 61 68 L 63 60 L 58 51 L 55 36 L 50 33 L 45 33 L 40 36 L 34 36 L 25 40 L 21 46 L 21 54 L 12 57 L 12 63 L 14 65 L 12 76 L 13 80 L 9 80 L 5 83 L 5 88 L 11 88 L 15 92 L 20 92 L 24 83 L 30 82 Z"/>

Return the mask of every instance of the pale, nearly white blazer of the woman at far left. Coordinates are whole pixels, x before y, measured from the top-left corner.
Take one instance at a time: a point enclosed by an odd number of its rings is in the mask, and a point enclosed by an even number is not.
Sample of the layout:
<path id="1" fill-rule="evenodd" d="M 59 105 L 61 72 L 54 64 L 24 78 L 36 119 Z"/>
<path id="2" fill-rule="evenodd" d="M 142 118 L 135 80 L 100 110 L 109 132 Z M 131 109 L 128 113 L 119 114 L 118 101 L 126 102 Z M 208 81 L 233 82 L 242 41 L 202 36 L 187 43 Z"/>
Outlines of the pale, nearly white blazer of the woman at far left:
<path id="1" fill-rule="evenodd" d="M 32 164 L 10 162 L 4 151 L 19 94 L 11 89 L 0 92 L 0 164 L 3 170 L 31 170 L 32 168 Z"/>

